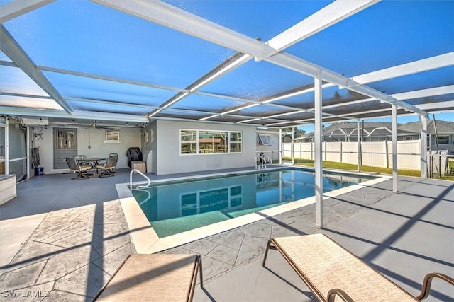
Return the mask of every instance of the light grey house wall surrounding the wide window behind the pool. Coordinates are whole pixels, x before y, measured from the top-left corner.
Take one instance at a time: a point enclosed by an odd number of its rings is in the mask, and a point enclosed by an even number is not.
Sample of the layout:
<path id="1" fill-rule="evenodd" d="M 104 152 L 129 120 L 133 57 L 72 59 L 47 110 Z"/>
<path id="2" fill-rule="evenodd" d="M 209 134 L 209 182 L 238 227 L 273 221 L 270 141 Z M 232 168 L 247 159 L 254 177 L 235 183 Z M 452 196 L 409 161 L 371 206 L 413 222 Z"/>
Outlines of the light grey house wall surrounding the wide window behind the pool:
<path id="1" fill-rule="evenodd" d="M 157 120 L 156 125 L 156 157 L 153 157 L 153 173 L 156 175 L 255 166 L 255 127 L 168 120 Z M 180 154 L 180 129 L 240 131 L 243 133 L 243 151 Z"/>

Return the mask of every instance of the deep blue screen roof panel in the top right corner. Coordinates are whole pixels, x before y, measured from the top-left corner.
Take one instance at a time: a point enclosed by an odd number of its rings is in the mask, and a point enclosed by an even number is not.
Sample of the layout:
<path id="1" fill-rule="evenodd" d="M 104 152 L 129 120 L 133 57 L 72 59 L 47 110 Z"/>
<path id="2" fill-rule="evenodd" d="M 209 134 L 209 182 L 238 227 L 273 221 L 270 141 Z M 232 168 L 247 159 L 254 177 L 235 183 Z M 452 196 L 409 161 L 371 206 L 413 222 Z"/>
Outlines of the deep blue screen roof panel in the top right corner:
<path id="1" fill-rule="evenodd" d="M 380 1 L 289 47 L 320 66 L 358 76 L 454 50 L 453 1 Z"/>

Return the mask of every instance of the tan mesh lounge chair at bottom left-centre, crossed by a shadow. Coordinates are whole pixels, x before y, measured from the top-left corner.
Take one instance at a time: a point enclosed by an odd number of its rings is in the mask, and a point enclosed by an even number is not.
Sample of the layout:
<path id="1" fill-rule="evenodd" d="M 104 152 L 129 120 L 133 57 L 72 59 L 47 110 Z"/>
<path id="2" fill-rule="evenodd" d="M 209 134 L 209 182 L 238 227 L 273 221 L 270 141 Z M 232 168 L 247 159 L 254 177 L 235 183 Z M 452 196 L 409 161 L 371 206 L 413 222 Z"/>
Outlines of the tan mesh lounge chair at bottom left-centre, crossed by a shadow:
<path id="1" fill-rule="evenodd" d="M 93 301 L 192 301 L 200 255 L 133 254 L 126 257 Z"/>

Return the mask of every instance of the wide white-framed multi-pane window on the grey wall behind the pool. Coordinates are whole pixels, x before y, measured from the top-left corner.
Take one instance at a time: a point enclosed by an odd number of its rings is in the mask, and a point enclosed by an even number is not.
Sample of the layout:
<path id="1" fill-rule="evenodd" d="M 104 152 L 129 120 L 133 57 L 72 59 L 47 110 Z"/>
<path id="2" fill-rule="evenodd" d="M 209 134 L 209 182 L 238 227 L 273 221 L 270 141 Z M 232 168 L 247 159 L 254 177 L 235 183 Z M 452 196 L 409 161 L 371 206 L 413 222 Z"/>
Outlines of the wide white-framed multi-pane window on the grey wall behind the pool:
<path id="1" fill-rule="evenodd" d="M 181 154 L 240 153 L 243 133 L 236 131 L 180 129 Z"/>

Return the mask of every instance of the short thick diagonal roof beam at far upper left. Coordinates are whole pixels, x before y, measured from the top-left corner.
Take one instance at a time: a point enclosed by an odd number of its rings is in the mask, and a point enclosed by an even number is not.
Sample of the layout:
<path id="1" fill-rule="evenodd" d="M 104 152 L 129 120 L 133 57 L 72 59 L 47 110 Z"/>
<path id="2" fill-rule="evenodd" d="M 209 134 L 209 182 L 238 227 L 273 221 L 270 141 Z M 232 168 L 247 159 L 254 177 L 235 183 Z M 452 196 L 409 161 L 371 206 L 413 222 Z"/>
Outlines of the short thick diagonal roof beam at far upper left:
<path id="1" fill-rule="evenodd" d="M 51 98 L 57 102 L 66 112 L 71 113 L 72 110 L 62 95 L 58 93 L 57 89 L 52 86 L 50 81 L 43 75 L 43 73 L 36 68 L 36 65 L 28 57 L 26 52 L 18 45 L 13 37 L 8 33 L 4 25 L 0 25 L 0 49 L 3 51 L 14 63 L 16 63 L 35 83 L 43 88 L 43 91 L 48 93 Z"/>

